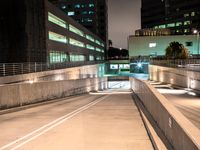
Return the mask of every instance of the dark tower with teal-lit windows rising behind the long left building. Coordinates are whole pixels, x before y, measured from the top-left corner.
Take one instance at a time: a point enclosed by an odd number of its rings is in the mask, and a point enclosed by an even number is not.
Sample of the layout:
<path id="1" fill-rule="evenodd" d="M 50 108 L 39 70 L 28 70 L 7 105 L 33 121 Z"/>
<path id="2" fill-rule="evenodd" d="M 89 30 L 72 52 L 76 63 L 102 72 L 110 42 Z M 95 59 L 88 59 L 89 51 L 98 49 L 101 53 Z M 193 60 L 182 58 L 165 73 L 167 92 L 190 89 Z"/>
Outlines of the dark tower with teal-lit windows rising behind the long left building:
<path id="1" fill-rule="evenodd" d="M 49 0 L 68 16 L 108 41 L 107 0 Z"/>

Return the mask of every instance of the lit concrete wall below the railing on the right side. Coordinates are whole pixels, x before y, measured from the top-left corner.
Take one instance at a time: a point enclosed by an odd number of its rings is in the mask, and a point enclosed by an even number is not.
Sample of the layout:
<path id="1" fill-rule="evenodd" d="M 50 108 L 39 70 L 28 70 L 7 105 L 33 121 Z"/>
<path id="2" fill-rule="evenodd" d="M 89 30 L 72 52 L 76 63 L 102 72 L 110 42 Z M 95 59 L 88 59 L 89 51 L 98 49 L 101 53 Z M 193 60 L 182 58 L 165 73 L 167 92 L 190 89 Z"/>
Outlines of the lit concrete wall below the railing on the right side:
<path id="1" fill-rule="evenodd" d="M 200 90 L 200 72 L 149 65 L 149 79 Z"/>

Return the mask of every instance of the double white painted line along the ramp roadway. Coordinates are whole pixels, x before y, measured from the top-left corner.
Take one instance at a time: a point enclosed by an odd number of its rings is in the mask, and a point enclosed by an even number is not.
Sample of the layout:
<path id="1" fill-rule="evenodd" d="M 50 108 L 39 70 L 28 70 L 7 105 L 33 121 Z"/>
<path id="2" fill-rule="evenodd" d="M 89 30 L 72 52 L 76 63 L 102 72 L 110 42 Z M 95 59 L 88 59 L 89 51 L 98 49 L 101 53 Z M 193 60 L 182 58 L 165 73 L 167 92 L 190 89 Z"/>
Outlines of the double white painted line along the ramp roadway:
<path id="1" fill-rule="evenodd" d="M 104 99 L 107 98 L 107 97 L 108 97 L 108 95 L 105 96 L 105 97 L 103 97 L 103 98 L 101 98 L 101 99 L 99 99 L 99 100 L 93 101 L 93 102 L 91 102 L 91 103 L 89 103 L 89 104 L 87 104 L 87 105 L 85 105 L 85 106 L 82 106 L 82 107 L 80 107 L 80 108 L 74 110 L 73 112 L 71 112 L 71 113 L 69 113 L 69 114 L 66 114 L 66 115 L 64 115 L 64 116 L 62 116 L 62 117 L 59 117 L 58 119 L 56 119 L 56 120 L 54 120 L 54 121 L 52 121 L 52 122 L 50 122 L 50 123 L 48 123 L 48 124 L 46 124 L 46 125 L 44 125 L 44 126 L 38 128 L 37 130 L 34 130 L 33 132 L 31 132 L 31 133 L 29 133 L 29 134 L 27 134 L 27 135 L 25 135 L 25 136 L 23 136 L 23 137 L 21 137 L 21 138 L 15 140 L 15 141 L 13 141 L 13 142 L 11 142 L 11 143 L 9 143 L 9 144 L 7 144 L 7 145 L 1 147 L 0 150 L 4 150 L 4 149 L 6 149 L 6 148 L 8 148 L 8 147 L 10 147 L 10 146 L 12 146 L 12 145 L 14 145 L 14 144 L 17 144 L 17 143 L 19 143 L 19 142 L 25 140 L 23 143 L 21 143 L 21 144 L 19 144 L 18 146 L 12 148 L 12 150 L 17 149 L 17 148 L 21 147 L 22 145 L 26 144 L 27 142 L 29 142 L 29 141 L 31 141 L 31 140 L 37 138 L 38 136 L 44 134 L 45 132 L 49 131 L 49 130 L 52 129 L 53 127 L 55 127 L 55 126 L 57 126 L 57 125 L 63 123 L 65 120 L 68 120 L 68 119 L 72 118 L 73 116 L 75 116 L 76 114 L 79 114 L 80 112 L 82 112 L 82 111 L 84 111 L 84 110 L 90 108 L 91 106 L 94 106 L 95 104 L 99 103 L 100 101 L 104 100 Z M 47 127 L 48 127 L 48 128 L 47 128 Z M 45 129 L 45 128 L 47 128 L 47 129 Z M 43 130 L 43 129 L 45 129 L 45 130 L 44 130 L 44 131 L 41 131 L 41 130 Z M 41 131 L 41 132 L 40 132 L 40 131 Z M 37 134 L 37 132 L 40 132 L 40 133 Z M 34 135 L 34 134 L 36 134 L 36 135 L 33 136 L 33 137 L 30 137 L 30 136 L 32 136 L 32 135 Z M 29 137 L 30 137 L 30 139 L 27 139 L 27 140 L 26 140 L 26 138 L 29 138 Z"/>

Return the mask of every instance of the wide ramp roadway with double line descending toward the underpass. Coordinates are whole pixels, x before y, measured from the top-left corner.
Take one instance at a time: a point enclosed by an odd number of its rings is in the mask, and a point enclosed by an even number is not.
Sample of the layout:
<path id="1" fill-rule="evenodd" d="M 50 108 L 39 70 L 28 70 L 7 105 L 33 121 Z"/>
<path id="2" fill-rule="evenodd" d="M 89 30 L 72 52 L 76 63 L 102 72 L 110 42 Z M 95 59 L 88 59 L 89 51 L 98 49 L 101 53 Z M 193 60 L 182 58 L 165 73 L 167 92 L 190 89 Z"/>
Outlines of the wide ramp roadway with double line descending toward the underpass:
<path id="1" fill-rule="evenodd" d="M 119 87 L 0 115 L 0 150 L 153 149 L 131 91 Z"/>

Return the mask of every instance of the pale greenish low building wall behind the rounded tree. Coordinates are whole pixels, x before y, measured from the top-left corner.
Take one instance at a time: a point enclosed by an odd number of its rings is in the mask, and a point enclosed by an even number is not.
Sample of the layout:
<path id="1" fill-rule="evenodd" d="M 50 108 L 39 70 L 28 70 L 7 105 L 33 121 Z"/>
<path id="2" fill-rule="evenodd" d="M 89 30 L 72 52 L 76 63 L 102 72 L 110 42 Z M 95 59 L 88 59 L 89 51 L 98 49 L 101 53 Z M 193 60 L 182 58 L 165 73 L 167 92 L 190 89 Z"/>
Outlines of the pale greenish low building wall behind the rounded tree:
<path id="1" fill-rule="evenodd" d="M 171 42 L 184 45 L 191 55 L 200 54 L 197 37 L 195 35 L 170 35 L 170 36 L 130 36 L 128 40 L 129 57 L 163 56 L 165 49 Z"/>

